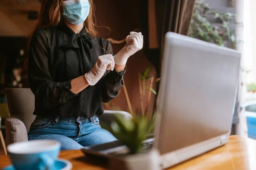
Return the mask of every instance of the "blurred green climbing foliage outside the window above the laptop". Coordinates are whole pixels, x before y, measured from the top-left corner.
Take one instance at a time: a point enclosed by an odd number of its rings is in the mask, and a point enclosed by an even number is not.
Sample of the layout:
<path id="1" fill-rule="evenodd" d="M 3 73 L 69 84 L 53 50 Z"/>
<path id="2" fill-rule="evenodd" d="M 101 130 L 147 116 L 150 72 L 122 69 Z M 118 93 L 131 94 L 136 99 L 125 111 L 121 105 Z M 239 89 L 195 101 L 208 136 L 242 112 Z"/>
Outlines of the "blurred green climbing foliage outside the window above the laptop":
<path id="1" fill-rule="evenodd" d="M 195 10 L 189 26 L 189 36 L 222 46 L 224 46 L 223 39 L 227 38 L 230 47 L 235 49 L 236 43 L 240 41 L 235 36 L 234 30 L 230 27 L 230 19 L 236 16 L 236 14 L 229 12 L 219 13 L 216 9 L 211 9 L 204 0 L 196 0 L 194 7 Z M 209 15 L 221 20 L 221 26 L 213 26 L 207 19 Z"/>

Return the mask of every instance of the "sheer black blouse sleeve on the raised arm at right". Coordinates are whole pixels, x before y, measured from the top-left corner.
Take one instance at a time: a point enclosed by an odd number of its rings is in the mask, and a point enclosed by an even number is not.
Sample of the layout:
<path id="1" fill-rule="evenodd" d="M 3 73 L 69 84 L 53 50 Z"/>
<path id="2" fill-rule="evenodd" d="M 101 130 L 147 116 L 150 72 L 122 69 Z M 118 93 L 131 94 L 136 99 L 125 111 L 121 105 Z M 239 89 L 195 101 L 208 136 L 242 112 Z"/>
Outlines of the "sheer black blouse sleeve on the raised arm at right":
<path id="1" fill-rule="evenodd" d="M 112 46 L 109 41 L 105 49 L 107 50 L 107 54 L 113 55 Z M 124 71 L 120 72 L 116 72 L 116 70 L 108 71 L 107 75 L 103 79 L 102 84 L 102 102 L 109 102 L 111 99 L 114 99 L 118 95 L 119 90 L 123 85 L 123 76 L 125 71 L 126 67 Z"/>

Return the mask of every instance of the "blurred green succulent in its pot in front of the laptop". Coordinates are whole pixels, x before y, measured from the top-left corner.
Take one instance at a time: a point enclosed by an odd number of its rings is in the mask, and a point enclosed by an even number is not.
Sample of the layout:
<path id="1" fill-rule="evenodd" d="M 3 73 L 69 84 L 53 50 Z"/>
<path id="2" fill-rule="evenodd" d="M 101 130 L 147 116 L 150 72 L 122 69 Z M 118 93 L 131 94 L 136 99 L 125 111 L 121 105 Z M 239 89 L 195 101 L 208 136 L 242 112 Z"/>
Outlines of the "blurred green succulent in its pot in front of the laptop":
<path id="1" fill-rule="evenodd" d="M 160 170 L 159 154 L 154 148 L 143 149 L 142 143 L 154 128 L 154 118 L 134 115 L 125 119 L 116 114 L 110 125 L 103 125 L 128 148 L 128 152 L 111 156 L 110 169 Z"/>

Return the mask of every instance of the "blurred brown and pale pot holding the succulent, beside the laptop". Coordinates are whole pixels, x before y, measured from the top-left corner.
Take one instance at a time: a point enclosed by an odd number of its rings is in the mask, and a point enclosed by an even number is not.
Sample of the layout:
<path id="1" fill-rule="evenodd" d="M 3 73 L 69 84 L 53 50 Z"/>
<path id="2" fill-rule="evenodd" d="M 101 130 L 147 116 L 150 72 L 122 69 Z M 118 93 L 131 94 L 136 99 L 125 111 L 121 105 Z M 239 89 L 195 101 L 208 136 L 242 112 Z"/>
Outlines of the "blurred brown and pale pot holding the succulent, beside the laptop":
<path id="1" fill-rule="evenodd" d="M 160 170 L 157 149 L 144 150 L 134 155 L 117 155 L 109 159 L 110 170 Z"/>

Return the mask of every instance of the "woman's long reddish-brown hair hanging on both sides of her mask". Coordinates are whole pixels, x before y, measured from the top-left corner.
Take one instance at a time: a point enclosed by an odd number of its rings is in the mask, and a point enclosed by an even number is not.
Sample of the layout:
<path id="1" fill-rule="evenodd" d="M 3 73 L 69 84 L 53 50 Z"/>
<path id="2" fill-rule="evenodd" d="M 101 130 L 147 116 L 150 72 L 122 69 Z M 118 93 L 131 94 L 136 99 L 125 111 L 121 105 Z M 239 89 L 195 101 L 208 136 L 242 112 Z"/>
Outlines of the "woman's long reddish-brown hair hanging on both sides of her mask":
<path id="1" fill-rule="evenodd" d="M 63 0 L 43 0 L 41 11 L 38 16 L 38 20 L 35 26 L 36 29 L 40 28 L 50 28 L 57 26 L 61 21 L 61 16 L 63 14 L 63 7 L 62 7 Z M 87 17 L 87 19 L 84 22 L 84 25 L 86 27 L 86 31 L 88 34 L 90 34 L 93 38 L 97 36 L 96 31 L 96 17 L 95 17 L 95 7 L 93 0 L 89 0 L 90 3 L 90 13 Z M 32 34 L 34 31 L 32 32 Z M 31 36 L 32 36 L 31 34 Z M 30 40 L 28 42 L 28 48 L 30 45 Z M 27 68 L 28 60 L 26 59 L 24 62 L 25 68 Z"/>

